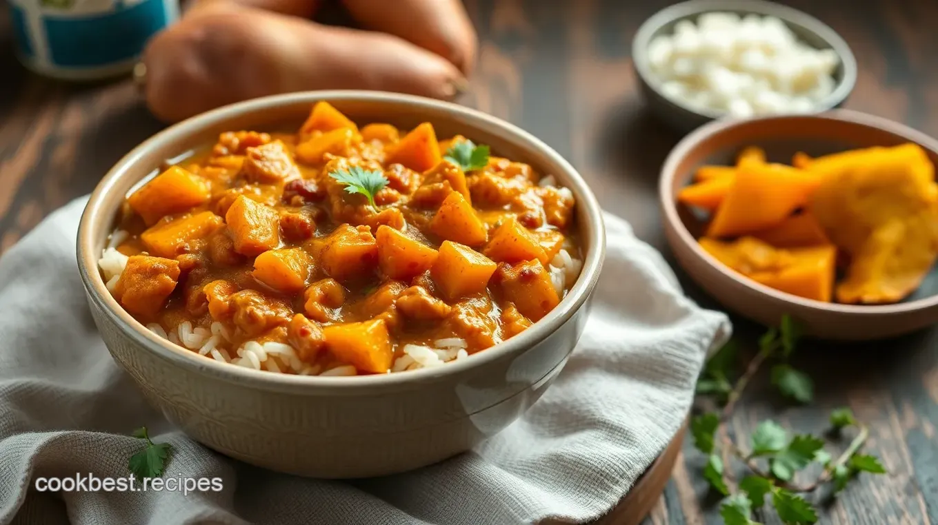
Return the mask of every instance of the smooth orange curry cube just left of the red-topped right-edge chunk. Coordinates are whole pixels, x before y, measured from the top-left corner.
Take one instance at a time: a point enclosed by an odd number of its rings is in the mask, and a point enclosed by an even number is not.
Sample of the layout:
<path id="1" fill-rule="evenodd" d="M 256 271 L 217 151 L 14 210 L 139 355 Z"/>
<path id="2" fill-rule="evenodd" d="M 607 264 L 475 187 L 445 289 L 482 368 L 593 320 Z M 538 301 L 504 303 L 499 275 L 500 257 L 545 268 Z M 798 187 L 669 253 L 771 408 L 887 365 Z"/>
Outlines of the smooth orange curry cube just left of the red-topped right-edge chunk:
<path id="1" fill-rule="evenodd" d="M 491 259 L 473 248 L 444 241 L 430 275 L 437 289 L 447 299 L 459 299 L 484 292 L 496 266 Z"/>

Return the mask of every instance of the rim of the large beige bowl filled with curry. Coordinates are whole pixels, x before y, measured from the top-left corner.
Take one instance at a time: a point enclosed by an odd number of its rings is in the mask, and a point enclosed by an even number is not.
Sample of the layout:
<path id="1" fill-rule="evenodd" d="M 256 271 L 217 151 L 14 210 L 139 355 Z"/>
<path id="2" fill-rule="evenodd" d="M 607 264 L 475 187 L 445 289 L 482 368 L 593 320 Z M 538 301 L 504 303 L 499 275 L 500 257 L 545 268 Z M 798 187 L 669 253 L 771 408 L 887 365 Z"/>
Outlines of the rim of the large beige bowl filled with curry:
<path id="1" fill-rule="evenodd" d="M 437 113 L 444 112 L 449 114 L 453 121 L 457 123 L 467 123 L 467 126 L 477 128 L 497 128 L 499 134 L 503 134 L 508 142 L 514 143 L 525 150 L 536 151 L 541 157 L 549 158 L 562 172 L 553 173 L 554 176 L 557 176 L 558 179 L 564 179 L 565 186 L 574 193 L 577 206 L 581 207 L 584 212 L 582 217 L 587 219 L 588 224 L 581 223 L 579 225 L 581 238 L 588 243 L 587 246 L 592 248 L 585 254 L 580 276 L 567 293 L 567 296 L 547 316 L 532 324 L 521 334 L 483 352 L 474 353 L 459 361 L 447 363 L 444 367 L 419 368 L 408 370 L 407 373 L 353 377 L 279 374 L 265 370 L 237 367 L 230 363 L 221 363 L 213 358 L 206 358 L 206 356 L 192 352 L 189 349 L 174 345 L 164 338 L 159 338 L 147 329 L 143 323 L 134 319 L 108 292 L 98 271 L 98 254 L 95 253 L 97 243 L 96 238 L 92 237 L 92 233 L 96 233 L 94 232 L 95 222 L 106 220 L 111 223 L 113 221 L 116 210 L 104 209 L 102 200 L 105 195 L 112 191 L 115 183 L 129 173 L 130 168 L 147 151 L 158 147 L 159 144 L 180 142 L 187 136 L 196 134 L 204 128 L 221 124 L 235 116 L 260 113 L 265 109 L 299 103 L 308 103 L 311 107 L 313 103 L 320 100 L 332 102 L 340 100 L 386 102 L 409 106 L 417 113 L 423 110 L 432 110 Z M 107 218 L 101 218 L 102 215 L 106 215 Z M 104 228 L 104 234 L 110 232 L 110 227 Z M 100 235 L 102 232 L 98 231 L 97 234 Z M 159 131 L 159 133 L 140 143 L 118 160 L 98 182 L 83 210 L 77 238 L 78 266 L 88 298 L 94 301 L 103 314 L 108 316 L 125 335 L 139 345 L 152 353 L 156 353 L 159 357 L 173 362 L 176 366 L 188 368 L 203 375 L 209 375 L 228 382 L 246 383 L 265 390 L 303 394 L 335 393 L 337 389 L 346 393 L 356 393 L 365 389 L 406 388 L 416 383 L 444 380 L 446 377 L 456 376 L 473 368 L 484 367 L 486 364 L 508 354 L 521 353 L 524 349 L 532 348 L 567 323 L 574 313 L 583 307 L 596 288 L 605 252 L 605 226 L 596 196 L 586 184 L 582 175 L 552 147 L 522 128 L 490 114 L 455 103 L 399 93 L 364 90 L 305 91 L 253 98 L 192 116 Z"/>

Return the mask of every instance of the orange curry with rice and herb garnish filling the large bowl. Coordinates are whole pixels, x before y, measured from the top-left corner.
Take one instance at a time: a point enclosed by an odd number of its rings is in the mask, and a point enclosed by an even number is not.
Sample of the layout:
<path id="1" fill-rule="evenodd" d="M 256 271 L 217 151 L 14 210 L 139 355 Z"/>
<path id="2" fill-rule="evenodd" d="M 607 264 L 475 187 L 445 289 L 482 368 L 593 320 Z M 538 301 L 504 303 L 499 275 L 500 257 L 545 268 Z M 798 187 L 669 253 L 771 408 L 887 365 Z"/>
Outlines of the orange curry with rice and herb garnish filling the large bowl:
<path id="1" fill-rule="evenodd" d="M 224 132 L 164 168 L 124 204 L 108 289 L 234 365 L 439 365 L 518 335 L 579 273 L 572 193 L 430 123 L 359 128 L 324 101 L 295 133 Z"/>

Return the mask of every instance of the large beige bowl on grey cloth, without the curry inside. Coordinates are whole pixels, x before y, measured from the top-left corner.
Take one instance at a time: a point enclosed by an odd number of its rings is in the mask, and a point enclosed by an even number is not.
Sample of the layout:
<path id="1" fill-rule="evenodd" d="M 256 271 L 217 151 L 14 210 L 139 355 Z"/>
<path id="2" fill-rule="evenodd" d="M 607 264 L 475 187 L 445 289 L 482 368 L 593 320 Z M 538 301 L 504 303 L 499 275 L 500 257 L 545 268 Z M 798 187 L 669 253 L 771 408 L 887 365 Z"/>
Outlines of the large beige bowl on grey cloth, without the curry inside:
<path id="1" fill-rule="evenodd" d="M 294 130 L 328 100 L 358 123 L 464 135 L 551 173 L 573 191 L 582 274 L 557 308 L 521 335 L 440 368 L 380 376 L 309 377 L 236 367 L 176 347 L 135 321 L 108 293 L 97 261 L 126 194 L 159 163 L 237 129 Z M 397 94 L 324 91 L 259 98 L 168 128 L 122 158 L 84 210 L 78 262 L 88 303 L 114 360 L 144 396 L 193 439 L 280 471 L 349 478 L 400 473 L 450 458 L 507 427 L 567 362 L 582 334 L 605 252 L 596 198 L 546 144 L 484 113 Z"/>

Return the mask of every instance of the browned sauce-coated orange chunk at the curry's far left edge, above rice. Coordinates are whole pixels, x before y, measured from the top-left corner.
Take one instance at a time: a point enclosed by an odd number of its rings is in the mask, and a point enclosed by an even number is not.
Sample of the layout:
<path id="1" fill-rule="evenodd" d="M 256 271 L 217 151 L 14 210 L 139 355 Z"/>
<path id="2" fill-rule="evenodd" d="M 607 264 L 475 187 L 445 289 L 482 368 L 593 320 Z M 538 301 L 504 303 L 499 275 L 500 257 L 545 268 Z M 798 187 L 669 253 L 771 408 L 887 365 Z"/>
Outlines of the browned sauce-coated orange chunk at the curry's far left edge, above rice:
<path id="1" fill-rule="evenodd" d="M 172 259 L 134 255 L 117 279 L 114 297 L 135 315 L 155 315 L 179 280 L 179 263 Z"/>

